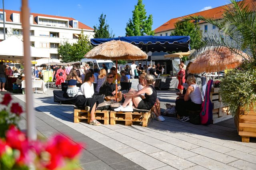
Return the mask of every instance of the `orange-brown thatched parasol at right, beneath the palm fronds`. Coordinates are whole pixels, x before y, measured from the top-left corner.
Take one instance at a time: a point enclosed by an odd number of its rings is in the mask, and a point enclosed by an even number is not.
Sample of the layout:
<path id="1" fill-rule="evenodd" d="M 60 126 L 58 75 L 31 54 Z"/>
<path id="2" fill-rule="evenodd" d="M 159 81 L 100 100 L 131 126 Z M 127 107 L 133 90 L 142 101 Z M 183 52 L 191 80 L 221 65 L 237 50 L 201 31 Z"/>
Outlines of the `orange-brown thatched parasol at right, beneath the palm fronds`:
<path id="1" fill-rule="evenodd" d="M 227 47 L 219 51 L 214 49 L 206 50 L 198 55 L 195 61 L 190 65 L 189 73 L 216 72 L 224 69 L 232 69 L 238 66 L 243 59 L 249 58 L 246 53 L 239 51 L 242 56 L 230 51 Z"/>

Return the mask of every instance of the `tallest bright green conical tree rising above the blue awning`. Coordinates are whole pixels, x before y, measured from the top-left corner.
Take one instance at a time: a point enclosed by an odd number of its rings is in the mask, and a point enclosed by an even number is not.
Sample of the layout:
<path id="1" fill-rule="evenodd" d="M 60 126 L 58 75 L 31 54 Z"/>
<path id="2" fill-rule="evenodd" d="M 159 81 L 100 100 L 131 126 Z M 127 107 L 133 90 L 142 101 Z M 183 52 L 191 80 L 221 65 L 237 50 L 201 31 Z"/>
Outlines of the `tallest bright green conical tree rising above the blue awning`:
<path id="1" fill-rule="evenodd" d="M 154 35 L 152 30 L 153 16 L 150 14 L 146 16 L 145 5 L 142 0 L 138 0 L 135 9 L 132 11 L 132 19 L 126 24 L 126 36 L 145 36 Z M 147 19 L 148 18 L 148 19 Z"/>

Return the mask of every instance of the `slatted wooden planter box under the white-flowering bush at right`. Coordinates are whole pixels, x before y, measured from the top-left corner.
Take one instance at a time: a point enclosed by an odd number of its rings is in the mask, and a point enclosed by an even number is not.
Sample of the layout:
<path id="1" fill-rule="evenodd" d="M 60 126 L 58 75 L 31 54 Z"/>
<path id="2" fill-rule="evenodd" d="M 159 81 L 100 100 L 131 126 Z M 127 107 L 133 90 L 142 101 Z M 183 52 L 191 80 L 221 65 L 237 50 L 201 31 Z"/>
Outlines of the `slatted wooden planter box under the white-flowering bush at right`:
<path id="1" fill-rule="evenodd" d="M 235 116 L 235 125 L 242 142 L 250 142 L 250 137 L 256 137 L 256 109 L 252 108 L 246 112 L 239 107 Z"/>

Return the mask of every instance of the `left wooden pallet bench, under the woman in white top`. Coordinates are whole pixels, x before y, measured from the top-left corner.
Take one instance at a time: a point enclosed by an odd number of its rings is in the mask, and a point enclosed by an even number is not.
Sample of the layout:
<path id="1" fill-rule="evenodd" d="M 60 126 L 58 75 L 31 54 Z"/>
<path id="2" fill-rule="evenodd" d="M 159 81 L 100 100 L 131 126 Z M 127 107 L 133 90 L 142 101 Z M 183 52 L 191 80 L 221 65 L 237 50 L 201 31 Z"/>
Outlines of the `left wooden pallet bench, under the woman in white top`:
<path id="1" fill-rule="evenodd" d="M 90 122 L 90 112 L 80 109 L 74 109 L 74 123 L 79 123 L 80 121 L 87 119 Z M 89 119 L 88 119 L 89 118 Z M 95 111 L 96 120 L 104 120 L 104 125 L 109 125 L 109 111 Z"/>

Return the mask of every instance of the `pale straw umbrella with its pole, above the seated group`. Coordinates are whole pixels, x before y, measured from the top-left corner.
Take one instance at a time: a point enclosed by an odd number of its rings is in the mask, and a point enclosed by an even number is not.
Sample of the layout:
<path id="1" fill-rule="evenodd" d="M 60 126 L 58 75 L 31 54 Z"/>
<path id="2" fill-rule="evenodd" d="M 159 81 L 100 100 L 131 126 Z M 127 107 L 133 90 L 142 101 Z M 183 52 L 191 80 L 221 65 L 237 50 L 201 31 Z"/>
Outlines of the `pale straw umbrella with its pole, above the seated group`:
<path id="1" fill-rule="evenodd" d="M 109 41 L 102 43 L 84 55 L 88 59 L 110 59 L 116 60 L 142 60 L 148 55 L 135 45 L 124 41 Z M 117 98 L 117 73 L 116 73 L 116 98 Z"/>

